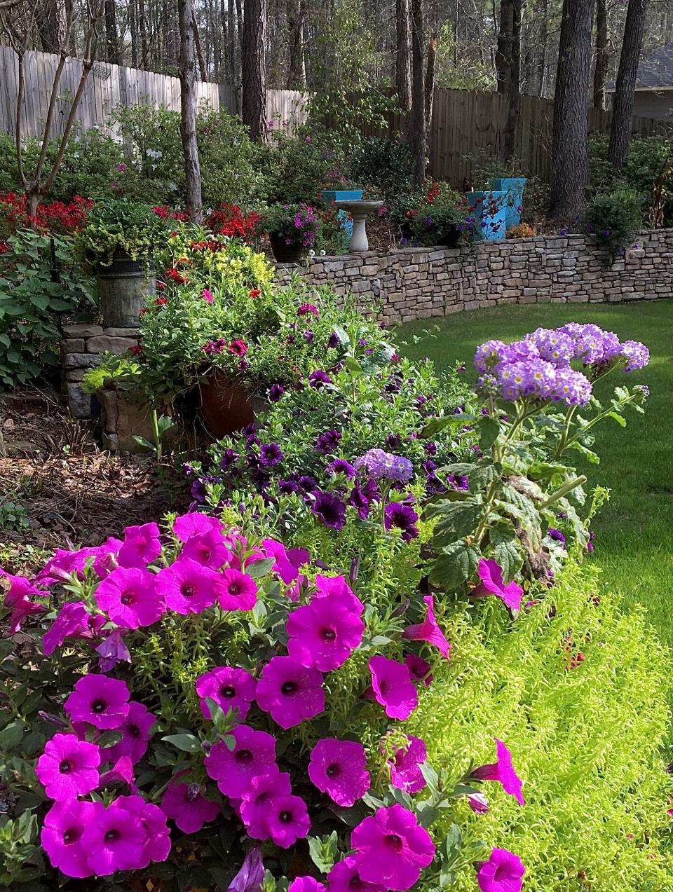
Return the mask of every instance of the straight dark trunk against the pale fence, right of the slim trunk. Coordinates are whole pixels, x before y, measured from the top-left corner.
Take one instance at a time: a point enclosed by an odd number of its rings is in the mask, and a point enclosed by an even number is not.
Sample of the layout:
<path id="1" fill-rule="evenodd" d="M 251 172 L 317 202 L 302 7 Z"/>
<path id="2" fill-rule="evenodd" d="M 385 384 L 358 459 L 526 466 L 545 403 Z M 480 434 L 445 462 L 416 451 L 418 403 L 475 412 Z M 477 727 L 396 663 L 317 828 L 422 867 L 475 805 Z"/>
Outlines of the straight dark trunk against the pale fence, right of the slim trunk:
<path id="1" fill-rule="evenodd" d="M 243 123 L 250 136 L 266 137 L 266 0 L 245 0 L 243 20 Z"/>

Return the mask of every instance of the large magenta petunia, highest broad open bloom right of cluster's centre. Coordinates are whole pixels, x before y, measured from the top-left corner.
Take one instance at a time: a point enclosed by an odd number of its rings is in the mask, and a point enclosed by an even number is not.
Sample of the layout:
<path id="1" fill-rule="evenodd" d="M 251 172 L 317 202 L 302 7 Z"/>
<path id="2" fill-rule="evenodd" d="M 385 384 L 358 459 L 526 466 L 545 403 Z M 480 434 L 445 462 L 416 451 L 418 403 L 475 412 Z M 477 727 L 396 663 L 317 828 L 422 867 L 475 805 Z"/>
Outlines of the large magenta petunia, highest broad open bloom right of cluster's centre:
<path id="1" fill-rule="evenodd" d="M 287 617 L 287 650 L 303 666 L 331 672 L 359 647 L 364 623 L 338 595 L 314 598 Z"/>

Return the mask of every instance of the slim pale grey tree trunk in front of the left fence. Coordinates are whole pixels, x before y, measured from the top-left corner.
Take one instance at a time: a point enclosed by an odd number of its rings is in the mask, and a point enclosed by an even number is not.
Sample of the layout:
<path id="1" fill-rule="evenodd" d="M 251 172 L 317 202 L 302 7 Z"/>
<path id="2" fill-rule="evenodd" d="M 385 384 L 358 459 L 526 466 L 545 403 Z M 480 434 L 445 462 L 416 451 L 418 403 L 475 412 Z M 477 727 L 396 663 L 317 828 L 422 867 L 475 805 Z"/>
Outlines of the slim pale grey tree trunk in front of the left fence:
<path id="1" fill-rule="evenodd" d="M 194 6 L 192 0 L 179 0 L 180 32 L 180 136 L 185 158 L 187 211 L 201 222 L 201 169 L 196 145 L 196 63 L 194 54 Z"/>

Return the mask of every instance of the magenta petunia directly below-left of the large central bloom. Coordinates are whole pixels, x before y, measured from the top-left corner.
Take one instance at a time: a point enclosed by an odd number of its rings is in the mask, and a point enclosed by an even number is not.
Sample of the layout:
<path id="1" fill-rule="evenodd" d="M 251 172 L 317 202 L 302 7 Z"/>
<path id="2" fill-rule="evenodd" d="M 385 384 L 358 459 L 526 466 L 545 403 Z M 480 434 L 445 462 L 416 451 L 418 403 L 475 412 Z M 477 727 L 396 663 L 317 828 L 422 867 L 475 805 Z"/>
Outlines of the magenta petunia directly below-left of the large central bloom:
<path id="1" fill-rule="evenodd" d="M 287 731 L 325 708 L 322 675 L 292 657 L 271 657 L 257 682 L 257 705 Z"/>

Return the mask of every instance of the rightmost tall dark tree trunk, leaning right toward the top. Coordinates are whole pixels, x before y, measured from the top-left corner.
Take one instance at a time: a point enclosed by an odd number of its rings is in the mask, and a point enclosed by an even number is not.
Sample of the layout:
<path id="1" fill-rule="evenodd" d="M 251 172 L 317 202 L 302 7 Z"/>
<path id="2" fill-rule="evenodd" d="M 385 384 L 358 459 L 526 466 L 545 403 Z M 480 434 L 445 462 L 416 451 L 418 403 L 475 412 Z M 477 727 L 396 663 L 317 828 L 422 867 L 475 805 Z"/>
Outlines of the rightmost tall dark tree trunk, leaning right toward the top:
<path id="1" fill-rule="evenodd" d="M 617 83 L 612 100 L 612 126 L 608 145 L 608 161 L 611 161 L 618 170 L 624 167 L 628 144 L 631 142 L 633 103 L 638 62 L 643 47 L 646 6 L 647 0 L 628 0 L 624 42 L 621 45 Z"/>

